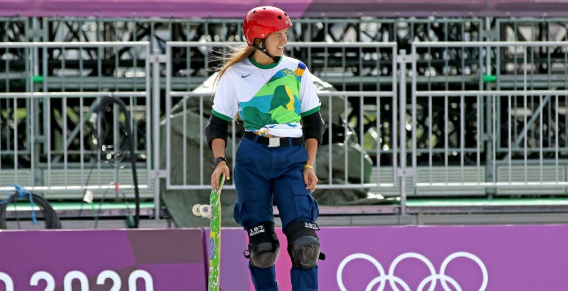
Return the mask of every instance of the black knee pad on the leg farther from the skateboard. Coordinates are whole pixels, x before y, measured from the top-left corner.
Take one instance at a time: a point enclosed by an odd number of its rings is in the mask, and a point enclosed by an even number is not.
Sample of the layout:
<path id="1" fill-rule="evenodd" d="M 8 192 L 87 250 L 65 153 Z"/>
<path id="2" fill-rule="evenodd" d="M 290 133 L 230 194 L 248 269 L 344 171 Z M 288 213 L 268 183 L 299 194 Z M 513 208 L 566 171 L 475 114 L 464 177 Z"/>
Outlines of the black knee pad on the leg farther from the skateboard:
<path id="1" fill-rule="evenodd" d="M 288 240 L 288 254 L 292 267 L 296 269 L 311 269 L 318 265 L 318 259 L 325 260 L 320 252 L 320 243 L 316 223 L 294 221 L 288 223 L 284 233 Z"/>

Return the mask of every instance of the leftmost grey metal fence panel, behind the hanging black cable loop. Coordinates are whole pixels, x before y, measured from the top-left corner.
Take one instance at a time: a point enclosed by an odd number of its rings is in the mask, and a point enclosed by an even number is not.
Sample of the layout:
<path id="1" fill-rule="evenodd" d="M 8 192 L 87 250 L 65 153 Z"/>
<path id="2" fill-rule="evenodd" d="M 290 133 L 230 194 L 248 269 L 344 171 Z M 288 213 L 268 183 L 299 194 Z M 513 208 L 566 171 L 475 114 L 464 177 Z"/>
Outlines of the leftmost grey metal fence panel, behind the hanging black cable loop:
<path id="1" fill-rule="evenodd" d="M 137 168 L 142 170 L 139 176 L 148 177 L 140 179 L 140 187 L 148 188 L 151 173 L 148 161 L 152 156 L 147 141 L 147 133 L 151 132 L 149 58 L 140 64 L 144 74 L 136 77 L 144 90 L 83 91 L 80 86 L 65 92 L 49 92 L 54 72 L 65 76 L 74 70 L 66 66 L 70 59 L 80 60 L 82 69 L 87 52 L 101 56 L 104 52 L 128 49 L 145 56 L 148 48 L 147 42 L 0 44 L 5 63 L 2 73 L 10 75 L 10 62 L 15 58 L 24 60 L 19 79 L 27 84 L 26 92 L 14 92 L 6 87 L 6 92 L 0 93 L 0 190 L 13 189 L 12 185 L 18 183 L 55 198 L 68 197 L 65 193 L 81 193 L 85 189 L 116 189 L 117 185 L 120 189 L 132 189 L 130 166 L 119 162 L 130 157 L 130 153 L 121 151 L 126 142 L 123 126 L 126 122 L 130 123 L 135 137 L 133 154 L 139 163 Z M 59 55 L 60 62 L 48 61 L 47 54 Z M 9 55 L 15 57 L 7 58 Z M 98 60 L 94 63 L 102 68 L 101 58 Z M 124 68 L 112 68 L 117 73 L 121 69 Z M 125 77 L 117 75 L 116 78 L 116 82 L 122 82 L 121 78 Z M 82 82 L 81 76 L 76 79 Z M 58 82 L 65 85 L 66 80 L 60 77 Z M 126 120 L 116 106 L 95 112 L 105 96 L 121 99 L 131 119 Z M 105 118 L 98 120 L 97 115 Z"/>

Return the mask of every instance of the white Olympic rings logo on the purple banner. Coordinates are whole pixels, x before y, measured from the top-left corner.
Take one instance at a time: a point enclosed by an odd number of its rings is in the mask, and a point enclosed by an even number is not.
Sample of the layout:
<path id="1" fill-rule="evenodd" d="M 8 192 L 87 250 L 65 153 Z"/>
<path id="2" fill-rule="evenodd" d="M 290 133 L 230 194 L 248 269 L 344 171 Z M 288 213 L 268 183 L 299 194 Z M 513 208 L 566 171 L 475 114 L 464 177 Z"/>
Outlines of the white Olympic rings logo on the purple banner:
<path id="1" fill-rule="evenodd" d="M 406 254 L 402 254 L 399 255 L 398 257 L 396 257 L 396 259 L 394 259 L 394 261 L 392 261 L 390 267 L 389 267 L 389 273 L 385 274 L 385 270 L 383 269 L 382 265 L 372 256 L 367 255 L 367 254 L 353 254 L 353 255 L 349 255 L 347 258 L 343 259 L 343 261 L 341 261 L 341 264 L 339 264 L 339 268 L 337 268 L 337 284 L 339 285 L 339 288 L 341 289 L 341 291 L 347 291 L 347 289 L 345 288 L 345 285 L 343 284 L 343 269 L 345 268 L 345 266 L 351 262 L 352 260 L 356 260 L 356 259 L 362 259 L 362 260 L 367 260 L 369 262 L 371 262 L 375 268 L 377 268 L 377 271 L 379 271 L 379 276 L 376 277 L 375 279 L 373 279 L 369 285 L 367 285 L 367 288 L 365 289 L 366 291 L 372 291 L 374 286 L 379 284 L 378 288 L 376 289 L 377 291 L 383 291 L 383 289 L 385 289 L 385 282 L 389 282 L 390 288 L 394 291 L 399 291 L 397 285 L 402 286 L 404 291 L 410 291 L 410 287 L 408 287 L 408 284 L 406 284 L 406 282 L 404 282 L 402 279 L 400 279 L 400 277 L 397 277 L 394 275 L 394 270 L 396 268 L 396 265 L 398 265 L 398 263 L 400 263 L 402 260 L 405 259 L 417 259 L 420 260 L 421 262 L 423 262 L 427 267 L 428 270 L 430 271 L 431 275 L 426 277 L 424 280 L 422 280 L 420 282 L 420 285 L 418 286 L 417 291 L 423 291 L 424 287 L 428 284 L 430 284 L 430 288 L 428 289 L 428 291 L 434 291 L 436 289 L 436 284 L 437 281 L 440 280 L 440 283 L 442 285 L 442 288 L 444 288 L 444 290 L 457 290 L 457 291 L 462 291 L 462 288 L 460 286 L 460 284 L 458 284 L 458 282 L 456 280 L 454 280 L 452 277 L 448 276 L 445 274 L 446 272 L 446 267 L 448 267 L 448 264 L 456 258 L 467 258 L 472 260 L 475 264 L 478 265 L 479 269 L 481 269 L 481 273 L 483 276 L 483 280 L 481 282 L 481 287 L 479 287 L 479 291 L 484 291 L 487 288 L 487 268 L 485 267 L 485 264 L 483 264 L 483 262 L 481 262 L 481 260 L 473 255 L 470 254 L 469 252 L 455 252 L 452 255 L 449 255 L 448 258 L 446 258 L 444 260 L 444 262 L 442 263 L 441 267 L 440 267 L 440 273 L 436 273 L 436 269 L 434 268 L 434 265 L 430 262 L 430 260 L 428 260 L 425 256 L 417 254 L 416 252 L 407 252 Z M 448 284 L 453 286 L 453 289 L 450 289 L 450 287 L 448 286 Z"/>

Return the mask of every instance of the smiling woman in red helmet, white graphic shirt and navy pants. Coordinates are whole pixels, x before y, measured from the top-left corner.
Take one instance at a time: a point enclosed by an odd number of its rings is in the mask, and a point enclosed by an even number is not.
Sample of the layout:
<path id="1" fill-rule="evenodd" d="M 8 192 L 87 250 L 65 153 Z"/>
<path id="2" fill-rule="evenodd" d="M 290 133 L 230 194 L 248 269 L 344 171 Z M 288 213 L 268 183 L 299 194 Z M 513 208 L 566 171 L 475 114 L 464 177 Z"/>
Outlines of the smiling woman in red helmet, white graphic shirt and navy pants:
<path id="1" fill-rule="evenodd" d="M 303 62 L 284 56 L 290 18 L 261 6 L 243 21 L 248 47 L 233 52 L 215 80 L 216 94 L 207 124 L 207 143 L 215 159 L 211 185 L 229 178 L 224 158 L 228 123 L 238 113 L 245 134 L 235 157 L 237 202 L 233 216 L 249 235 L 250 275 L 257 290 L 278 290 L 274 264 L 280 242 L 274 231 L 273 199 L 278 206 L 292 262 L 293 290 L 318 290 L 320 243 L 318 204 L 311 192 L 318 177 L 315 155 L 325 130 L 311 74 Z M 300 124 L 301 121 L 301 124 Z"/>

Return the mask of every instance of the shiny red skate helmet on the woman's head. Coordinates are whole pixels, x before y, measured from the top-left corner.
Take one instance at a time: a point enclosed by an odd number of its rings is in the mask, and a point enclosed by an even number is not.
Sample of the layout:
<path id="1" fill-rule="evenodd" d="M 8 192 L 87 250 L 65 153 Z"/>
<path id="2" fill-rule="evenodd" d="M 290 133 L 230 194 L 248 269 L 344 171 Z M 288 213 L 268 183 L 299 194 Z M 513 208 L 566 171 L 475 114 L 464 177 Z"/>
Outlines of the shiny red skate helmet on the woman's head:
<path id="1" fill-rule="evenodd" d="M 248 45 L 254 39 L 264 39 L 270 33 L 292 26 L 290 17 L 284 10 L 274 6 L 260 6 L 251 9 L 243 20 L 243 32 Z"/>

